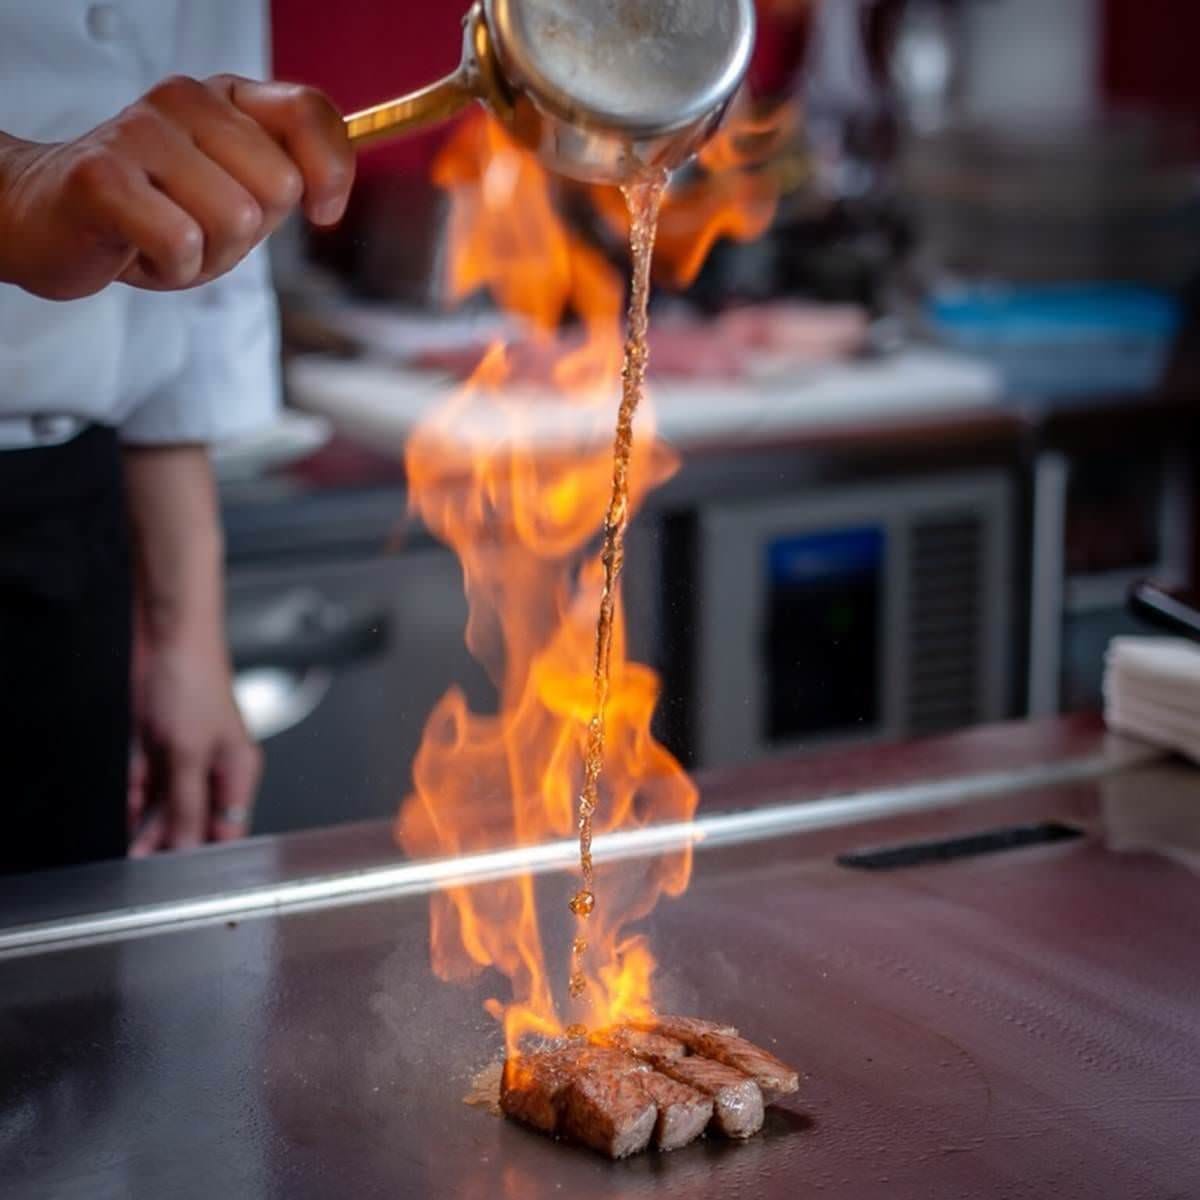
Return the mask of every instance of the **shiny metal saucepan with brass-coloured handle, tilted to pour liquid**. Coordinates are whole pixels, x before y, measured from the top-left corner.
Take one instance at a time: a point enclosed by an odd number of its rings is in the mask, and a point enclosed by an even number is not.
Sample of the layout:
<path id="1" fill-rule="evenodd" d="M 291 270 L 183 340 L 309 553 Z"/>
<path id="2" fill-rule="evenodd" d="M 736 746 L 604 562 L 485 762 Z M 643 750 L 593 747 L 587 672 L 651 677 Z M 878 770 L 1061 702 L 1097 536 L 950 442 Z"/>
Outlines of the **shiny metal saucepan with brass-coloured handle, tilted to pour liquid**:
<path id="1" fill-rule="evenodd" d="M 752 0 L 476 0 L 462 65 L 346 119 L 376 142 L 478 100 L 552 168 L 620 184 L 686 162 L 712 136 L 754 49 Z"/>

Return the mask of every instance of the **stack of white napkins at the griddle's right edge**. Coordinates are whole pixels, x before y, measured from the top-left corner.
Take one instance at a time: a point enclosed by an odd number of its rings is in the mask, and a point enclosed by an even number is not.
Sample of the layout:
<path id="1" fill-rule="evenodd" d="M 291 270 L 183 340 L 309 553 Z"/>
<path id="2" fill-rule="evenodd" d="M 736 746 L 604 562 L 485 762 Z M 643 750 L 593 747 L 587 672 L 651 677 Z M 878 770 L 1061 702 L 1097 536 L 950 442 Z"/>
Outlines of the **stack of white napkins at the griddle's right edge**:
<path id="1" fill-rule="evenodd" d="M 1200 644 L 1115 637 L 1104 672 L 1104 720 L 1200 762 Z"/>

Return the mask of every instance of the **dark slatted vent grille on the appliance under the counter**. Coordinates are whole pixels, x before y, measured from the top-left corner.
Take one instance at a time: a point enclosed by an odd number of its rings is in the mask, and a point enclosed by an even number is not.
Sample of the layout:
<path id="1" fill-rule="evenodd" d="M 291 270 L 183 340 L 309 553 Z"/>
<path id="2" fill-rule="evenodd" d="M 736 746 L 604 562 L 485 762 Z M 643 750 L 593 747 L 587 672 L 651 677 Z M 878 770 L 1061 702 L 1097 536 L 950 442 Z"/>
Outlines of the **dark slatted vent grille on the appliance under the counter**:
<path id="1" fill-rule="evenodd" d="M 911 733 L 940 733 L 980 719 L 985 534 L 983 518 L 971 514 L 920 517 L 911 527 Z"/>

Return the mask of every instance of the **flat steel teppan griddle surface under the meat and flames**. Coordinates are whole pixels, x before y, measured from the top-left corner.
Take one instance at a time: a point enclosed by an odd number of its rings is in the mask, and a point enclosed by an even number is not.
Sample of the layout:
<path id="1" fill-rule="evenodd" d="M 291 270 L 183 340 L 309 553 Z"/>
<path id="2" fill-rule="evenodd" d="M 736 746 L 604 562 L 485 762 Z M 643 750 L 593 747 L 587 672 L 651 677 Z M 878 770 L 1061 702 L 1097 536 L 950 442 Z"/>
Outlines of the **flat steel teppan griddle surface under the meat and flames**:
<path id="1" fill-rule="evenodd" d="M 714 780 L 650 922 L 667 1003 L 805 1073 L 750 1144 L 463 1105 L 493 982 L 433 979 L 424 868 L 355 829 L 6 886 L 0 1194 L 1200 1195 L 1200 775 L 1081 726 L 869 760 Z"/>

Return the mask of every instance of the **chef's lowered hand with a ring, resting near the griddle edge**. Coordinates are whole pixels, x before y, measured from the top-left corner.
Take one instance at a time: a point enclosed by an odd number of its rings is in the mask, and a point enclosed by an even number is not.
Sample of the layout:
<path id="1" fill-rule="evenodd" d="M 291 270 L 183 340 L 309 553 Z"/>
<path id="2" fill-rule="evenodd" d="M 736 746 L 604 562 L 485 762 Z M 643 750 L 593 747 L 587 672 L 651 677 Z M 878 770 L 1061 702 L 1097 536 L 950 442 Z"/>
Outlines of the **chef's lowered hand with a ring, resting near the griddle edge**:
<path id="1" fill-rule="evenodd" d="M 233 841 L 250 828 L 262 775 L 216 642 L 139 643 L 130 775 L 130 854 Z"/>

